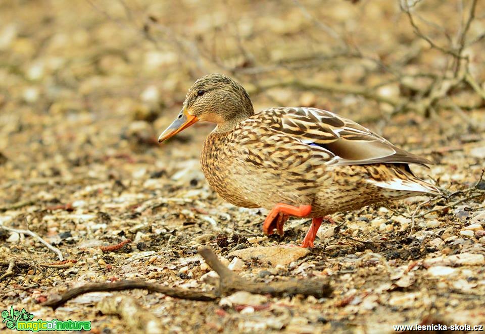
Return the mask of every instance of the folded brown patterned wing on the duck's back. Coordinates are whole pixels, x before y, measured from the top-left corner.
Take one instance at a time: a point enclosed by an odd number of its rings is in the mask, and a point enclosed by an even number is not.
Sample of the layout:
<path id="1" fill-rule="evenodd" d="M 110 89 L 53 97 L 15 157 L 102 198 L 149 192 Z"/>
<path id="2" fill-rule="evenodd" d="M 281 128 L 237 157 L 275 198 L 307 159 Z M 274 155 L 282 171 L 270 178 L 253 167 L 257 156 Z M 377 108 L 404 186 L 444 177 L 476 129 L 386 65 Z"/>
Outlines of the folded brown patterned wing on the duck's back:
<path id="1" fill-rule="evenodd" d="M 400 149 L 360 124 L 317 108 L 272 108 L 260 118 L 273 130 L 331 154 L 327 164 L 416 163 L 429 160 Z"/>

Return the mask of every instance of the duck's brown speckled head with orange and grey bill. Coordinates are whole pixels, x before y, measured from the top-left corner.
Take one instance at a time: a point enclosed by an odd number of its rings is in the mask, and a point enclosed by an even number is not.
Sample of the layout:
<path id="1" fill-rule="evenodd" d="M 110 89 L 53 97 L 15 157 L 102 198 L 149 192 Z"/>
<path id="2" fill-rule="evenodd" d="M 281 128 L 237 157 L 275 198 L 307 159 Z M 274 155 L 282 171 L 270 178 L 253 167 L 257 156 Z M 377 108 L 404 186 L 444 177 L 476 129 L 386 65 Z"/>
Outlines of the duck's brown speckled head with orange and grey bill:
<path id="1" fill-rule="evenodd" d="M 190 87 L 182 110 L 158 141 L 162 142 L 199 121 L 216 123 L 218 131 L 230 131 L 252 115 L 253 104 L 243 86 L 224 74 L 209 74 Z"/>

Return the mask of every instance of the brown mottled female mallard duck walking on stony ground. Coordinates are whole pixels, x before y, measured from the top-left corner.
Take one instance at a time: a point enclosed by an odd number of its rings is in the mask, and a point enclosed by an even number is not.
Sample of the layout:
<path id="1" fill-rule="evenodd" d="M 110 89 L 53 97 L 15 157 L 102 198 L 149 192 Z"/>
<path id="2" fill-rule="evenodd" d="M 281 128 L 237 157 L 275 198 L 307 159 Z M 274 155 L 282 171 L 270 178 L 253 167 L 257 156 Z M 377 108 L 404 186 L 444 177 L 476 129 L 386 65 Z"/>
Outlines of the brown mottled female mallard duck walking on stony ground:
<path id="1" fill-rule="evenodd" d="M 288 215 L 312 217 L 302 247 L 313 247 L 323 218 L 336 211 L 440 191 L 413 175 L 427 159 L 363 126 L 316 108 L 270 108 L 255 114 L 246 90 L 222 74 L 189 89 L 159 142 L 198 121 L 216 123 L 201 164 L 209 185 L 230 203 L 270 210 L 263 232 L 282 234 Z"/>

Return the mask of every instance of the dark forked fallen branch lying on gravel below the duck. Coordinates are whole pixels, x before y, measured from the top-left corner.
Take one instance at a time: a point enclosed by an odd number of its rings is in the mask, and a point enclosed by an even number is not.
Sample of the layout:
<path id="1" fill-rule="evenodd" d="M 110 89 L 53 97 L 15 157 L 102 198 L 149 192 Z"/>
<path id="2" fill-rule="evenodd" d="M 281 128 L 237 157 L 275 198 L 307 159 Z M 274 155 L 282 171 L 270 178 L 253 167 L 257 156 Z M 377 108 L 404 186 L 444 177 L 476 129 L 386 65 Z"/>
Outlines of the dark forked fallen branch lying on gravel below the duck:
<path id="1" fill-rule="evenodd" d="M 78 288 L 70 289 L 62 296 L 56 295 L 43 305 L 56 309 L 68 300 L 85 293 L 130 289 L 145 289 L 151 292 L 160 292 L 170 297 L 197 301 L 214 301 L 221 296 L 228 295 L 234 291 L 248 291 L 254 294 L 270 294 L 271 296 L 293 296 L 301 294 L 304 296 L 314 296 L 316 298 L 326 297 L 331 293 L 331 288 L 325 280 L 292 280 L 275 283 L 251 282 L 229 270 L 229 268 L 218 260 L 217 255 L 209 247 L 199 248 L 199 254 L 201 254 L 206 260 L 206 263 L 219 274 L 219 286 L 216 288 L 215 292 L 170 288 L 143 281 L 90 283 Z"/>

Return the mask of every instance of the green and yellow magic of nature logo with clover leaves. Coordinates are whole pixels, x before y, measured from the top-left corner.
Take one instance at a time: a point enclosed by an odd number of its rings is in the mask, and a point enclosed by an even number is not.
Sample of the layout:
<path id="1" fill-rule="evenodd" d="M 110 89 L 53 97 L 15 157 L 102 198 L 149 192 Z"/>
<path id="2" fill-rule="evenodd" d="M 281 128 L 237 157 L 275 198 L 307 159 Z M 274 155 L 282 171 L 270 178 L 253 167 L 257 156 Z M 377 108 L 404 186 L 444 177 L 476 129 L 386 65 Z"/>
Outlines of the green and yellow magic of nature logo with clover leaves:
<path id="1" fill-rule="evenodd" d="M 90 330 L 91 321 L 59 321 L 57 319 L 52 320 L 32 320 L 33 314 L 28 313 L 25 308 L 22 311 L 14 310 L 14 307 L 10 307 L 8 310 L 2 311 L 2 323 L 5 323 L 7 328 L 16 330 Z"/>

